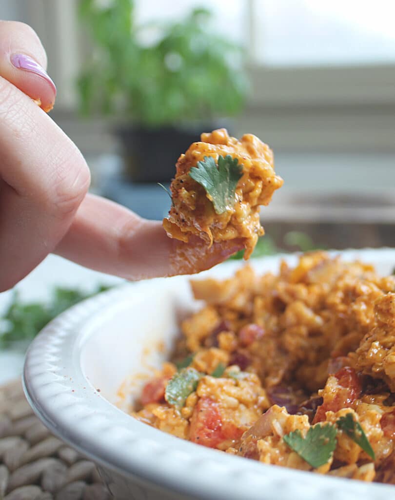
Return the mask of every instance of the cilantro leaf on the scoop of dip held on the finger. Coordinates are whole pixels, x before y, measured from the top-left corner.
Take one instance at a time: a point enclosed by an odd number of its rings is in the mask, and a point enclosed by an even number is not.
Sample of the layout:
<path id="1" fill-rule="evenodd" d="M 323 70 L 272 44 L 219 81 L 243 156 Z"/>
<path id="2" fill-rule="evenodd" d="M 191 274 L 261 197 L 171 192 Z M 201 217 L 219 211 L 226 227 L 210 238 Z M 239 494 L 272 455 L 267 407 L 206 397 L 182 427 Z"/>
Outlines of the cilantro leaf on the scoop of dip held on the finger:
<path id="1" fill-rule="evenodd" d="M 197 164 L 198 167 L 190 169 L 189 175 L 206 189 L 214 210 L 218 214 L 224 213 L 235 204 L 236 186 L 243 175 L 243 165 L 230 154 L 218 157 L 218 167 L 212 156 L 205 156 L 204 161 Z"/>

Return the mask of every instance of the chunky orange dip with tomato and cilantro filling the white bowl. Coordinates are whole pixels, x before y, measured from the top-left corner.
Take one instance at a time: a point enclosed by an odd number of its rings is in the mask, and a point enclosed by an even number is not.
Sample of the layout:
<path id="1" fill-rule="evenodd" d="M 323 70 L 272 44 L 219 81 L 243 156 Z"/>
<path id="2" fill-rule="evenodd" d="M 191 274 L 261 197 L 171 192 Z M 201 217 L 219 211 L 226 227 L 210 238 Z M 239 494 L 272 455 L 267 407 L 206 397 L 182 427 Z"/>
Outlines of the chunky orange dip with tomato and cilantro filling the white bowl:
<path id="1" fill-rule="evenodd" d="M 395 278 L 325 252 L 192 281 L 139 420 L 266 464 L 395 483 Z"/>

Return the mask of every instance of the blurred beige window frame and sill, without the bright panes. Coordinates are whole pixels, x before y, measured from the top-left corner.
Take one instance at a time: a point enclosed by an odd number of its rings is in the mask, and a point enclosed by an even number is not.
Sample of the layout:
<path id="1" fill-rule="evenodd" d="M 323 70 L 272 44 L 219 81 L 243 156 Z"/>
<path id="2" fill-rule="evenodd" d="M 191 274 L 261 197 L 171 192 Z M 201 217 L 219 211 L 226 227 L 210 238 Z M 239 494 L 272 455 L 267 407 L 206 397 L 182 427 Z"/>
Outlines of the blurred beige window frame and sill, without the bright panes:
<path id="1" fill-rule="evenodd" d="M 46 47 L 49 72 L 58 82 L 53 116 L 61 121 L 63 113 L 70 119 L 77 106 L 73 80 L 83 60 L 79 46 L 83 33 L 76 16 L 78 0 L 18 1 L 23 2 L 26 21 Z M 285 150 L 395 152 L 395 64 L 258 65 L 254 62 L 257 1 L 248 0 L 246 4 L 247 70 L 252 92 L 235 132 L 253 130 L 269 137 L 274 148 Z"/>

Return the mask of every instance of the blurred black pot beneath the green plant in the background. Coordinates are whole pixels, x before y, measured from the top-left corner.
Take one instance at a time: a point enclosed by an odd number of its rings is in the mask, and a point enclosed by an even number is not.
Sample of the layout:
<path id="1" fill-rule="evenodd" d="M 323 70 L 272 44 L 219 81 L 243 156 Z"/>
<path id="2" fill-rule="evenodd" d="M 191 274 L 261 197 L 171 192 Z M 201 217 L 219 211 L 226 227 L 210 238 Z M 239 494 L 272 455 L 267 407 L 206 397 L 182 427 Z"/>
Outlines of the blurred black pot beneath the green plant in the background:
<path id="1" fill-rule="evenodd" d="M 200 140 L 202 132 L 225 127 L 230 120 L 218 120 L 185 126 L 144 128 L 138 125 L 118 128 L 125 164 L 126 180 L 133 182 L 170 182 L 175 174 L 179 155 L 192 142 Z"/>

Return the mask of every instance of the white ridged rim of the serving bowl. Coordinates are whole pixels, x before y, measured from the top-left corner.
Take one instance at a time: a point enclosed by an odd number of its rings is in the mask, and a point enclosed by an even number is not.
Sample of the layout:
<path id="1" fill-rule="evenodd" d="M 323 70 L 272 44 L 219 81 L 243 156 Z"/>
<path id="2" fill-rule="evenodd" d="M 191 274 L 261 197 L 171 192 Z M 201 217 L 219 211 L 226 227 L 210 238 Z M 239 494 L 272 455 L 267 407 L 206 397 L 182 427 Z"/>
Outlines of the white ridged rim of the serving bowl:
<path id="1" fill-rule="evenodd" d="M 346 259 L 395 262 L 395 249 L 361 249 L 332 252 Z M 298 254 L 266 256 L 251 261 L 253 267 L 278 267 L 282 258 L 295 262 Z M 150 482 L 199 498 L 323 498 L 377 500 L 388 498 L 393 486 L 350 481 L 312 474 L 228 455 L 199 446 L 152 428 L 124 413 L 101 397 L 81 366 L 82 347 L 92 325 L 103 314 L 137 299 L 152 286 L 203 277 L 224 277 L 243 265 L 220 264 L 195 276 L 175 276 L 122 284 L 71 307 L 52 320 L 33 340 L 26 353 L 23 388 L 40 420 L 60 439 L 101 466 L 130 480 Z M 170 281 L 171 280 L 171 281 Z M 134 479 L 132 479 L 134 478 Z"/>

